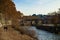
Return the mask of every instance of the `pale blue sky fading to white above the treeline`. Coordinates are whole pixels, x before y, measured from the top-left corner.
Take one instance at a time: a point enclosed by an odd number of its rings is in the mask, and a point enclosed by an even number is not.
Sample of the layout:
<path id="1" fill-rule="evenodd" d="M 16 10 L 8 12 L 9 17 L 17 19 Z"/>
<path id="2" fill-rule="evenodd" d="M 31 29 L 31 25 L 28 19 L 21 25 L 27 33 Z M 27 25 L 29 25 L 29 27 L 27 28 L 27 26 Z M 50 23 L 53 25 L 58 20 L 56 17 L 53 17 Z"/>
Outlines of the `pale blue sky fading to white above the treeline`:
<path id="1" fill-rule="evenodd" d="M 46 15 L 60 8 L 60 0 L 13 0 L 13 2 L 16 9 L 24 15 Z"/>

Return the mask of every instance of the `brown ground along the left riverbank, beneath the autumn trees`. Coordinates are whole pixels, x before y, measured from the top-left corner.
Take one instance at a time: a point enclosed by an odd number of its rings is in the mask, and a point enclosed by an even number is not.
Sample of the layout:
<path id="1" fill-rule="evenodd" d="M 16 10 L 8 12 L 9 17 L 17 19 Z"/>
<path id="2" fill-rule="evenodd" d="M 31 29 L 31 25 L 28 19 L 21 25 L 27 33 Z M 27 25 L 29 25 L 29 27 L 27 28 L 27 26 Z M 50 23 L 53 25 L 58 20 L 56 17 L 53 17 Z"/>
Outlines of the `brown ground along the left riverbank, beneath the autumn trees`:
<path id="1" fill-rule="evenodd" d="M 14 30 L 13 28 L 8 28 L 7 30 L 4 27 L 0 28 L 0 40 L 35 40 L 28 35 L 22 35 L 20 32 Z"/>

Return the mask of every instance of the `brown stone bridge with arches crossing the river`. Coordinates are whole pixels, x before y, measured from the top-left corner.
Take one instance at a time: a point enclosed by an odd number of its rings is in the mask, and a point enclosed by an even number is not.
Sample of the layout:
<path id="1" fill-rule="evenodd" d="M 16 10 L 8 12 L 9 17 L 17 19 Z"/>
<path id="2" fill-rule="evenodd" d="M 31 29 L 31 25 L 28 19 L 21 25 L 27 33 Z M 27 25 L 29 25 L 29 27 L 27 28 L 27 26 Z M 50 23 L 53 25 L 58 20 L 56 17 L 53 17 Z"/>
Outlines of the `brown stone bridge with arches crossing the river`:
<path id="1" fill-rule="evenodd" d="M 21 25 L 24 26 L 35 26 L 42 24 L 42 19 L 37 16 L 24 16 L 20 21 Z"/>

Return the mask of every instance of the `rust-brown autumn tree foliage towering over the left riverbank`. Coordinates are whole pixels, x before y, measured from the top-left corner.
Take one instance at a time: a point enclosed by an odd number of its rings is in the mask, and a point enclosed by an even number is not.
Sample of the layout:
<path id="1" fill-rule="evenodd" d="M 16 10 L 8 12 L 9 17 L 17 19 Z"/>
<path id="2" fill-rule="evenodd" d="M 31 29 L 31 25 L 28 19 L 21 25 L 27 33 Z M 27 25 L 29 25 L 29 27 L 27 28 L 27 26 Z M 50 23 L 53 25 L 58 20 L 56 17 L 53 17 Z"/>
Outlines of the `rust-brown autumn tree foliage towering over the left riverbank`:
<path id="1" fill-rule="evenodd" d="M 18 26 L 18 19 L 21 17 L 21 12 L 15 8 L 15 4 L 11 0 L 0 0 L 0 12 L 6 20 L 12 20 L 13 26 Z"/>

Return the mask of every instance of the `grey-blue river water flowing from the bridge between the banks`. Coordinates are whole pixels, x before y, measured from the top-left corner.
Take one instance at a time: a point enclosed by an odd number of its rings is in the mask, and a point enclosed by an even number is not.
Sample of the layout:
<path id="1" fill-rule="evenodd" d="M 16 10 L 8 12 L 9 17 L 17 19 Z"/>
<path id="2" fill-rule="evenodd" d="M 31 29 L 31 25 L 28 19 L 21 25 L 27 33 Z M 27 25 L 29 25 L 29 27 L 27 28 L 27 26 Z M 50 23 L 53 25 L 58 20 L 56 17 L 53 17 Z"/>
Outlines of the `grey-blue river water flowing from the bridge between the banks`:
<path id="1" fill-rule="evenodd" d="M 36 29 L 32 27 L 31 29 Z M 36 29 L 39 40 L 60 40 L 60 35 Z"/>

